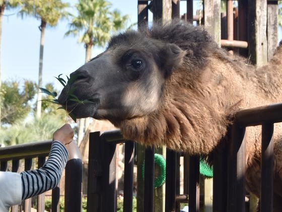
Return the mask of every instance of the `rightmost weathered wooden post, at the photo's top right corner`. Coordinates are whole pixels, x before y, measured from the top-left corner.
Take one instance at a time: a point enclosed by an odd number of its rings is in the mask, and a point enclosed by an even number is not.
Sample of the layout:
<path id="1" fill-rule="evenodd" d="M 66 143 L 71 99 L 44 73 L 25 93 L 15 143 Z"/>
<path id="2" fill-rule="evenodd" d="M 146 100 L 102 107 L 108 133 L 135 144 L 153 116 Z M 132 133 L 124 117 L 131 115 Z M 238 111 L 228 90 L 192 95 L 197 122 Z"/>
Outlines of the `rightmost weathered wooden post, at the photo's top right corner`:
<path id="1" fill-rule="evenodd" d="M 267 61 L 273 57 L 278 42 L 278 2 L 267 2 Z"/>

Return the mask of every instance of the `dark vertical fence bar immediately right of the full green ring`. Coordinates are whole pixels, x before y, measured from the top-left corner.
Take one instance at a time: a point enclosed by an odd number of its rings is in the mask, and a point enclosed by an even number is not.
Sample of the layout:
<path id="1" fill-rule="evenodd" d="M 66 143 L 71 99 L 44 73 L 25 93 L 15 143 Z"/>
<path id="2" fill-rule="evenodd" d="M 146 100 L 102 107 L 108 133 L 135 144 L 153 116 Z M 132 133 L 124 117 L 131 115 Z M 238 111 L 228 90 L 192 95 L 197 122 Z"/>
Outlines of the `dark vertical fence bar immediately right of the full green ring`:
<path id="1" fill-rule="evenodd" d="M 166 151 L 166 200 L 165 212 L 175 211 L 176 152 Z"/>

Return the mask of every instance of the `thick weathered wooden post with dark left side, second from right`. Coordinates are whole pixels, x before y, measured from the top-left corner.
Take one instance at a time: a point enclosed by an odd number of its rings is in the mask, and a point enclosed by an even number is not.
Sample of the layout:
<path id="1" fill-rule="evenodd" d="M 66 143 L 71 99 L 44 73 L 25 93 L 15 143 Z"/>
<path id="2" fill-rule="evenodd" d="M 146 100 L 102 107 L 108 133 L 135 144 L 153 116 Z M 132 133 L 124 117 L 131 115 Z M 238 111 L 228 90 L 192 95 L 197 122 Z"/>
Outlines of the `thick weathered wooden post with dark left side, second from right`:
<path id="1" fill-rule="evenodd" d="M 267 1 L 248 2 L 249 55 L 258 67 L 267 63 Z"/>

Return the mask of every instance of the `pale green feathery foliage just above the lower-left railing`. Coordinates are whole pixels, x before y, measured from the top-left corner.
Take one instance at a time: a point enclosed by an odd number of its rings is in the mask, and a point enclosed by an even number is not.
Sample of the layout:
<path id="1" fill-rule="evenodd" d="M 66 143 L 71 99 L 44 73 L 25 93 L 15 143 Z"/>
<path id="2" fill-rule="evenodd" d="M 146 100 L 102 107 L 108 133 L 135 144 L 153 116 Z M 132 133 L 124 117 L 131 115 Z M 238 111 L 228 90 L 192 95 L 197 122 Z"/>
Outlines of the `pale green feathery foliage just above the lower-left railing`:
<path id="1" fill-rule="evenodd" d="M 0 143 L 6 146 L 52 139 L 55 130 L 64 124 L 56 115 L 44 115 L 41 119 L 19 121 L 0 131 Z"/>

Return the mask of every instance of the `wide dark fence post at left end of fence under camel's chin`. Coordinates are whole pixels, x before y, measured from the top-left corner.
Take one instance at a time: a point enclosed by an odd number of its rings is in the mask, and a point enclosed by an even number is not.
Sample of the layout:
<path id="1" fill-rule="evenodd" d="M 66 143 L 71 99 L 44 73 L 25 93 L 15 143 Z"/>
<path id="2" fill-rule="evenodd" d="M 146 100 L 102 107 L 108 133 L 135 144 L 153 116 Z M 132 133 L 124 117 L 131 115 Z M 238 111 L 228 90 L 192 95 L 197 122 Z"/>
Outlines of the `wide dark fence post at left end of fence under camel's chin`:
<path id="1" fill-rule="evenodd" d="M 102 141 L 100 132 L 89 134 L 87 211 L 100 212 L 102 199 Z"/>

